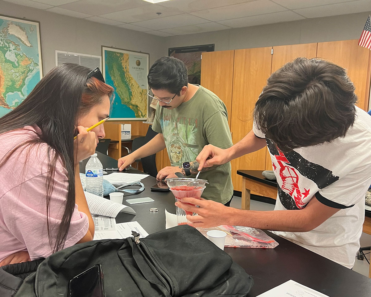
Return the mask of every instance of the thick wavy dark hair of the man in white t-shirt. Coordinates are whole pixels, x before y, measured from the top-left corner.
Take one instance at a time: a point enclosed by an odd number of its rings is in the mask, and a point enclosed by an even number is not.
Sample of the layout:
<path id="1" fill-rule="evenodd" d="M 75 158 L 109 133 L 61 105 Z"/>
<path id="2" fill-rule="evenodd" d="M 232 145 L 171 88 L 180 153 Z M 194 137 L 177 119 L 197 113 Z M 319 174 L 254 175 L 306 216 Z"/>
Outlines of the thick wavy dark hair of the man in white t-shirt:
<path id="1" fill-rule="evenodd" d="M 346 71 L 320 59 L 297 58 L 267 80 L 255 104 L 257 127 L 288 152 L 344 137 L 357 96 Z"/>

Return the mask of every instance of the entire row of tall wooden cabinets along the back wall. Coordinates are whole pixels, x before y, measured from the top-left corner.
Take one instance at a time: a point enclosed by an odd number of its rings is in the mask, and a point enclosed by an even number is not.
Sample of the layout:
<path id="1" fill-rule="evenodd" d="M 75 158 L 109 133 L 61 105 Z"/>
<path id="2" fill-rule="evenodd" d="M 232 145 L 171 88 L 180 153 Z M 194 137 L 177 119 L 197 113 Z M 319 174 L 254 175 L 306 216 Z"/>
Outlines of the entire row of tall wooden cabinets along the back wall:
<path id="1" fill-rule="evenodd" d="M 226 104 L 234 144 L 252 129 L 252 111 L 270 74 L 297 57 L 321 57 L 347 69 L 356 87 L 357 105 L 368 110 L 371 52 L 358 46 L 358 40 L 203 53 L 201 84 L 216 93 Z M 240 191 L 242 180 L 236 174 L 238 169 L 272 170 L 267 149 L 232 161 L 233 186 Z"/>

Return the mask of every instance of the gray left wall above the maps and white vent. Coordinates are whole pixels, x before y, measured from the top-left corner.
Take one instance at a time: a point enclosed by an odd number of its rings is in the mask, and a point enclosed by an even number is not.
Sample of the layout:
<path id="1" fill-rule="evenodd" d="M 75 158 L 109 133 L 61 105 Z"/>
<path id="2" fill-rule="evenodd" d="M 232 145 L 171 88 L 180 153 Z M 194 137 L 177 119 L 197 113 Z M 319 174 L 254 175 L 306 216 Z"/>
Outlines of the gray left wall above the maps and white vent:
<path id="1" fill-rule="evenodd" d="M 101 46 L 150 54 L 150 65 L 166 53 L 164 37 L 94 23 L 0 1 L 0 14 L 40 22 L 43 73 L 55 67 L 55 51 L 101 56 Z"/>

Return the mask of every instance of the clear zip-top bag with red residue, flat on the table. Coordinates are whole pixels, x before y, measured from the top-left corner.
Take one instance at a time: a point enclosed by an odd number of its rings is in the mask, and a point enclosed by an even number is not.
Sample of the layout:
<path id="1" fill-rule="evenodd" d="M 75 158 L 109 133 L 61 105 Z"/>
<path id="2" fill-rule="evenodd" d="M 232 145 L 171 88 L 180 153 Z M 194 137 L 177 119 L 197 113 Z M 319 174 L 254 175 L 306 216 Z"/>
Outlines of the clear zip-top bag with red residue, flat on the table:
<path id="1" fill-rule="evenodd" d="M 227 233 L 225 247 L 275 248 L 278 242 L 260 229 L 223 225 L 213 228 L 197 228 L 204 236 L 210 230 L 222 230 Z"/>

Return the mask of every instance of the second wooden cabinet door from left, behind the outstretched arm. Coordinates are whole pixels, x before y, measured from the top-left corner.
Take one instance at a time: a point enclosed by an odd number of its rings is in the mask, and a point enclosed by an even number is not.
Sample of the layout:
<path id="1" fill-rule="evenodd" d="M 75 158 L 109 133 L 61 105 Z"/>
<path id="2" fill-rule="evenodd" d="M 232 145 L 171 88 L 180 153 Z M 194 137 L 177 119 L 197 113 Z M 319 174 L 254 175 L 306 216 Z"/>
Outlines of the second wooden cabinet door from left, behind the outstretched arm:
<path id="1" fill-rule="evenodd" d="M 236 144 L 253 127 L 253 109 L 255 102 L 270 76 L 272 65 L 272 47 L 244 49 L 234 51 L 233 95 L 231 131 Z M 202 71 L 201 71 L 202 72 Z M 266 149 L 262 148 L 232 160 L 232 181 L 235 190 L 240 191 L 242 177 L 238 169 L 265 170 Z"/>

